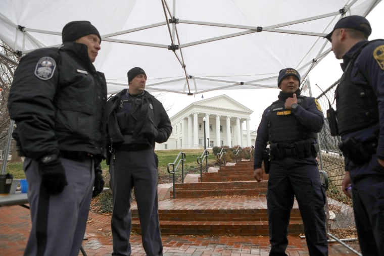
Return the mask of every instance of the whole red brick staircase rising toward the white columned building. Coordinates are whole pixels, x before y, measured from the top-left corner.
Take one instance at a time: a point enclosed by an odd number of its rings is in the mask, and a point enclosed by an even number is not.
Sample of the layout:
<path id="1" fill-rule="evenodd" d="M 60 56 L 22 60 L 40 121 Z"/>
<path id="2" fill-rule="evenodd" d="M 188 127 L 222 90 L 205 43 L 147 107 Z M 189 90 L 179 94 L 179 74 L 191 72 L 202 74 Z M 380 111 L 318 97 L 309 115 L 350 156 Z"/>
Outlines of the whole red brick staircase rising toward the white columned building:
<path id="1" fill-rule="evenodd" d="M 251 161 L 222 166 L 218 172 L 203 173 L 203 182 L 176 183 L 175 199 L 159 201 L 162 234 L 168 235 L 268 235 L 268 175 L 258 183 L 253 178 Z M 140 234 L 135 202 L 131 207 L 132 231 Z M 295 201 L 291 212 L 289 234 L 304 233 Z"/>

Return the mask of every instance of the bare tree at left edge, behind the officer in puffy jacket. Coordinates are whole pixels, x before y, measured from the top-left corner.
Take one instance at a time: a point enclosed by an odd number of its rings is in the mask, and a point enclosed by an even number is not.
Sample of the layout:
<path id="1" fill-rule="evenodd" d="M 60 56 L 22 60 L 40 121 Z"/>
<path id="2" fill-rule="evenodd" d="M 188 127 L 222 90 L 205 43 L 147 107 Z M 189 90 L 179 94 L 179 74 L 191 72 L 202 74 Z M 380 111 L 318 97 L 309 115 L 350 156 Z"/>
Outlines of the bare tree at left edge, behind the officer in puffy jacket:
<path id="1" fill-rule="evenodd" d="M 13 49 L 5 42 L 0 40 L 0 148 L 5 149 L 8 131 L 10 125 L 10 118 L 8 114 L 8 95 L 13 81 L 17 63 L 20 57 L 14 53 Z M 16 153 L 15 141 L 12 140 L 12 160 L 11 162 L 19 162 L 20 157 Z M 7 159 L 8 156 L 4 156 Z"/>

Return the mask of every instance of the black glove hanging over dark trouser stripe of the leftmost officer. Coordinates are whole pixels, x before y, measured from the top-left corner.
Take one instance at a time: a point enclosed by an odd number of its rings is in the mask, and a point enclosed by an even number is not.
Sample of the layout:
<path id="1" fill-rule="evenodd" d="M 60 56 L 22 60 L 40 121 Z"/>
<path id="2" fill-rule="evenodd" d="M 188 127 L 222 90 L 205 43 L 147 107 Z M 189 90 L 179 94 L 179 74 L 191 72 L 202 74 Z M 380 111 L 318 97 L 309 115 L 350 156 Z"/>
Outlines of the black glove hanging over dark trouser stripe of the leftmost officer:
<path id="1" fill-rule="evenodd" d="M 49 194 L 59 194 L 68 185 L 63 165 L 57 156 L 43 157 L 39 162 L 41 185 Z"/>

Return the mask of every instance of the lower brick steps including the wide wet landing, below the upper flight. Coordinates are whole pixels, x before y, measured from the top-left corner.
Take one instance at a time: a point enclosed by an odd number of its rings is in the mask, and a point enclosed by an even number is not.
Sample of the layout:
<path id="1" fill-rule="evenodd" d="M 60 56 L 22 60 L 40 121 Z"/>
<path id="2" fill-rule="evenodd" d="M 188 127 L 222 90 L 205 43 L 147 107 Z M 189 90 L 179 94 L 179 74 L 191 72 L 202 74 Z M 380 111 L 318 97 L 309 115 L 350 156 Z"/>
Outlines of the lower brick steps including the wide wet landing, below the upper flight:
<path id="1" fill-rule="evenodd" d="M 136 202 L 131 204 L 132 231 L 140 234 Z M 268 235 L 265 197 L 176 198 L 159 201 L 162 234 Z M 295 200 L 289 234 L 304 233 Z"/>

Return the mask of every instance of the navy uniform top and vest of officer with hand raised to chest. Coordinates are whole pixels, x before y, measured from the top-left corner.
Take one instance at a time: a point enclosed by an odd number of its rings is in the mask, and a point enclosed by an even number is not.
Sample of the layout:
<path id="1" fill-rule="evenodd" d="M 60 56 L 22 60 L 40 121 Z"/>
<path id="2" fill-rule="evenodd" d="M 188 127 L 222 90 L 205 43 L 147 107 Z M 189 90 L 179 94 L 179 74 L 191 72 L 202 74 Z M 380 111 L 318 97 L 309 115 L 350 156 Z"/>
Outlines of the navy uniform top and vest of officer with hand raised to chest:
<path id="1" fill-rule="evenodd" d="M 254 169 L 261 168 L 263 150 L 266 148 L 268 142 L 289 144 L 306 139 L 316 141 L 314 135 L 321 131 L 324 124 L 324 115 L 321 111 L 321 107 L 315 98 L 300 96 L 299 89 L 295 93 L 298 98 L 298 107 L 295 110 L 286 110 L 284 108 L 285 99 L 287 97 L 293 97 L 293 93 L 284 93 L 282 91 L 280 91 L 280 94 L 278 95 L 279 99 L 264 110 L 257 130 L 254 152 Z M 276 108 L 276 106 L 280 107 Z M 293 120 L 295 120 L 294 126 L 292 126 Z M 271 129 L 272 126 L 277 128 Z M 271 141 L 276 138 L 274 135 L 277 135 L 270 134 L 271 131 L 275 133 L 282 133 L 278 135 L 278 141 Z M 286 133 L 284 134 L 285 131 Z M 304 132 L 297 132 L 295 134 L 295 131 Z M 285 136 L 285 141 L 280 139 L 282 136 Z"/>

